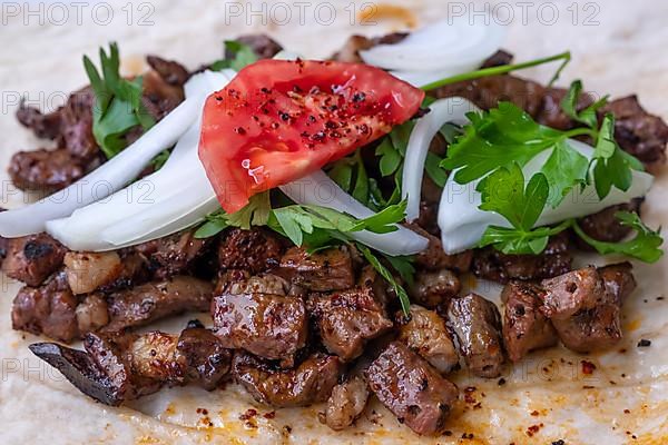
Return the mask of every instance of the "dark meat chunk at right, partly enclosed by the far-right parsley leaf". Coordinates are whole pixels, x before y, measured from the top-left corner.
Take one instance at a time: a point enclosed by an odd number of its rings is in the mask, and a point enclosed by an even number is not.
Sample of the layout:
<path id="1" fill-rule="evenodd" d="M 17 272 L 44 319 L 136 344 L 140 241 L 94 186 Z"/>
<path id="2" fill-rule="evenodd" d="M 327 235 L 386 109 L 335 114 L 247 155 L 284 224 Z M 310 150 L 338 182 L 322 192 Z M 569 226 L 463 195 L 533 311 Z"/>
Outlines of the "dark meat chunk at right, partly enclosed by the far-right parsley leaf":
<path id="1" fill-rule="evenodd" d="M 631 233 L 631 228 L 622 225 L 619 219 L 615 218 L 615 214 L 618 211 L 638 212 L 641 204 L 642 199 L 633 199 L 628 204 L 608 207 L 598 214 L 589 215 L 584 218 L 578 219 L 578 226 L 580 226 L 584 234 L 599 241 L 621 241 Z M 583 247 L 587 250 L 591 250 L 591 247 L 583 241 L 578 243 L 578 246 Z"/>

